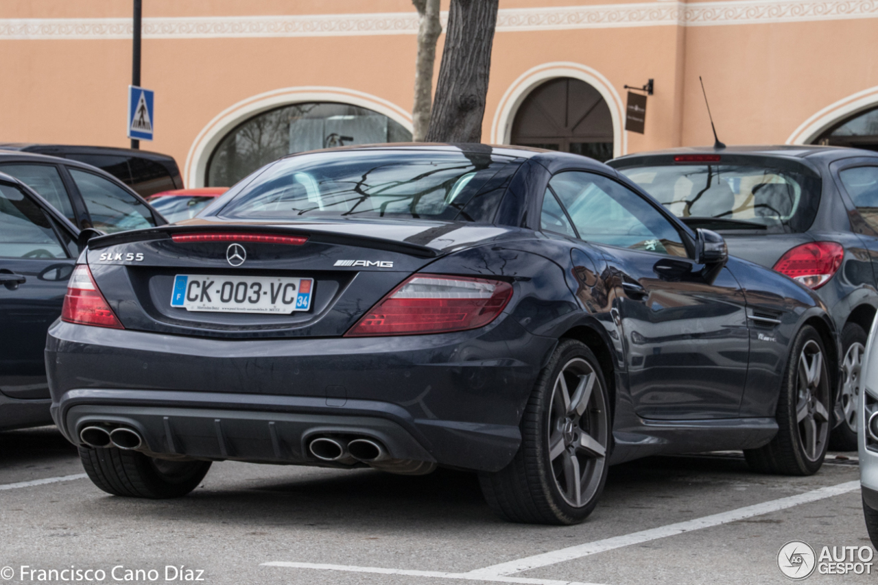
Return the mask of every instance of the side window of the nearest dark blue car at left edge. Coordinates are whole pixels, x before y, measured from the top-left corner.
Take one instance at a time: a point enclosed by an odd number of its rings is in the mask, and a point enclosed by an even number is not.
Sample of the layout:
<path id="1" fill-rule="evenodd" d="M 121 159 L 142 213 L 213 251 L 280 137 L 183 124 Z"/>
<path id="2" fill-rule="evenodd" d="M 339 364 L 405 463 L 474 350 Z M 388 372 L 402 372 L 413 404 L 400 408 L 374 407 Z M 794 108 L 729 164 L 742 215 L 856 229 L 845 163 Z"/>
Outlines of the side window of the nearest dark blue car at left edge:
<path id="1" fill-rule="evenodd" d="M 0 256 L 67 258 L 40 206 L 9 185 L 0 185 Z"/>

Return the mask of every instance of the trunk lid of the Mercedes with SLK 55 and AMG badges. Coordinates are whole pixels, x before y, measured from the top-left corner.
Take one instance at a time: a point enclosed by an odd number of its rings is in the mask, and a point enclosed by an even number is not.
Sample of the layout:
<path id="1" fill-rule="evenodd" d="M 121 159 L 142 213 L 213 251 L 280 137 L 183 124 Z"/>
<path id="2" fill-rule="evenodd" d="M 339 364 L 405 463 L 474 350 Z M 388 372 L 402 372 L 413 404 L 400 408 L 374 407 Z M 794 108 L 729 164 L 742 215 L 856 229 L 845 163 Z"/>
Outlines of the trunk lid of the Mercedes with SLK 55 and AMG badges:
<path id="1" fill-rule="evenodd" d="M 87 258 L 98 288 L 129 330 L 226 338 L 334 337 L 433 260 L 517 232 L 411 219 L 272 224 L 210 218 L 95 238 Z M 180 238 L 202 235 L 198 241 Z M 305 241 L 248 240 L 264 235 Z M 233 245 L 244 250 L 238 266 L 227 258 Z M 274 282 L 311 279 L 310 306 L 284 313 L 187 310 L 171 305 L 177 275 L 209 284 L 205 290 L 213 297 L 220 291 L 225 296 L 227 283 L 234 287 L 246 279 L 263 279 L 267 298 L 277 296 L 276 289 L 269 295 L 268 281 L 273 287 Z"/>

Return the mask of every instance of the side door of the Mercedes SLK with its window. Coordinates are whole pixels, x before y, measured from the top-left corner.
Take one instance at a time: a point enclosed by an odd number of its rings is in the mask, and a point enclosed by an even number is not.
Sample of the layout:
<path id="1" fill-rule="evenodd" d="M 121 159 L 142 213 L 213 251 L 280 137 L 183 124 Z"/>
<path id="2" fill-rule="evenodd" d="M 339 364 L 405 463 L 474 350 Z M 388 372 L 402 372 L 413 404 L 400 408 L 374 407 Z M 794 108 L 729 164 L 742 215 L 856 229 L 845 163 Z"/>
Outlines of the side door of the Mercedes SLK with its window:
<path id="1" fill-rule="evenodd" d="M 729 270 L 705 275 L 662 212 L 593 173 L 554 175 L 542 224 L 600 245 L 639 416 L 738 417 L 749 340 L 745 299 Z"/>

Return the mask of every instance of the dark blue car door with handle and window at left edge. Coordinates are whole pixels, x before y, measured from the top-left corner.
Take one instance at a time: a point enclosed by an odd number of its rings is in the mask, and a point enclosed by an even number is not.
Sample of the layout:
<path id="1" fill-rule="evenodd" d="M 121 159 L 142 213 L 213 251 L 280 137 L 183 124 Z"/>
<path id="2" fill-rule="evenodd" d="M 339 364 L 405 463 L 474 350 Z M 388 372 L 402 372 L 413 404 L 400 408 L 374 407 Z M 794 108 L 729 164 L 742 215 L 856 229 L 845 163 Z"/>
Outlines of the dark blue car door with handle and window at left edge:
<path id="1" fill-rule="evenodd" d="M 20 186 L 0 180 L 0 392 L 47 398 L 43 348 L 76 262 L 73 234 Z"/>

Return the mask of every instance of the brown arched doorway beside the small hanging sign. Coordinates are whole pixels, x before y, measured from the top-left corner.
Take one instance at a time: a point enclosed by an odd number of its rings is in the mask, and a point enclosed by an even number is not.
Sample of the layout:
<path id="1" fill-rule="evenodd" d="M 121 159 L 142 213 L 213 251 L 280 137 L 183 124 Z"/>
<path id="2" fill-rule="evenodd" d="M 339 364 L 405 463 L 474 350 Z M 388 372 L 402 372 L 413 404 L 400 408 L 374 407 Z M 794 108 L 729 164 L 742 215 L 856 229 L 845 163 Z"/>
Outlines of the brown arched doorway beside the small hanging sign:
<path id="1" fill-rule="evenodd" d="M 613 158 L 613 119 L 601 93 L 571 77 L 545 82 L 515 113 L 512 144 Z"/>

